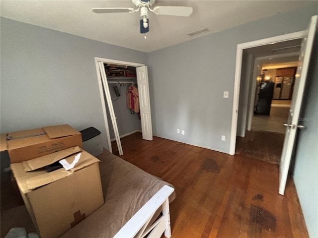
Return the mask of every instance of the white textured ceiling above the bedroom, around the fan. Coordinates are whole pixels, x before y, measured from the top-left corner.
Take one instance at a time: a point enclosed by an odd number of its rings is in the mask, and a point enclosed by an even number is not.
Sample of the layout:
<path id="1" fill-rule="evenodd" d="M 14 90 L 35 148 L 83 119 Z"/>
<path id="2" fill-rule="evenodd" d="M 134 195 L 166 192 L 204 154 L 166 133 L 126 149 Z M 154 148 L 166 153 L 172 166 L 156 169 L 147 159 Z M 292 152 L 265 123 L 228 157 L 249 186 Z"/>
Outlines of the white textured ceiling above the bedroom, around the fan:
<path id="1" fill-rule="evenodd" d="M 291 11 L 303 0 L 157 0 L 156 5 L 192 6 L 189 17 L 149 13 L 147 40 L 139 33 L 139 13 L 96 14 L 92 7 L 134 7 L 131 0 L 0 0 L 0 15 L 92 40 L 152 52 L 192 40 L 189 32 L 207 27 L 206 34 Z M 203 36 L 201 35 L 201 36 Z M 197 36 L 200 37 L 200 36 Z"/>

